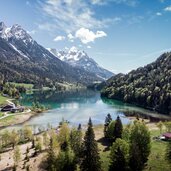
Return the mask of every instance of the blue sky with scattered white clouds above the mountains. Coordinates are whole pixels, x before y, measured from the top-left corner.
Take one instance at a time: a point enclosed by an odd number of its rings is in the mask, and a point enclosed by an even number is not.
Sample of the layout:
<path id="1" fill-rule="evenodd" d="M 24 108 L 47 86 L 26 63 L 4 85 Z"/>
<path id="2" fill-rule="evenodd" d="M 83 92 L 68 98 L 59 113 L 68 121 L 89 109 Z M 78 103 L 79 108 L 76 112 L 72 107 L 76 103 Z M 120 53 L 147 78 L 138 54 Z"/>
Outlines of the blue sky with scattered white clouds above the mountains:
<path id="1" fill-rule="evenodd" d="M 85 50 L 114 73 L 171 51 L 171 0 L 1 0 L 0 20 L 44 47 Z"/>

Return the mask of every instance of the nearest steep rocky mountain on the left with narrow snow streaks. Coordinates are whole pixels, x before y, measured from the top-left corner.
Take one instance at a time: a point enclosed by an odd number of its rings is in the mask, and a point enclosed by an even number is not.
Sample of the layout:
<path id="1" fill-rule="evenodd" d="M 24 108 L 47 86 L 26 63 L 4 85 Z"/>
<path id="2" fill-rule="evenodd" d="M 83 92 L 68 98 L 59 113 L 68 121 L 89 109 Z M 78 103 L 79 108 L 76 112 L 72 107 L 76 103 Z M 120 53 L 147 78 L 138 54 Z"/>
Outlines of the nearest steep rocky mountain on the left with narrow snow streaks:
<path id="1" fill-rule="evenodd" d="M 6 81 L 52 86 L 88 85 L 102 81 L 93 73 L 74 68 L 39 45 L 20 25 L 0 23 L 0 78 Z"/>

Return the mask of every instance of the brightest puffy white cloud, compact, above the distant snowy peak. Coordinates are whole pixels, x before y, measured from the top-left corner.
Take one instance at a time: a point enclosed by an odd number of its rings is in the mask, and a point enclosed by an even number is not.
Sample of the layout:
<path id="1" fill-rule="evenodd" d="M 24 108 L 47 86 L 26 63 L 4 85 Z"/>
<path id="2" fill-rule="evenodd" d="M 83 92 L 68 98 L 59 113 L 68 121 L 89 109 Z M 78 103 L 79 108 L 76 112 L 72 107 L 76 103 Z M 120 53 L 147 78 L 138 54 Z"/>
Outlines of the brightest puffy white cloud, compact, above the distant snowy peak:
<path id="1" fill-rule="evenodd" d="M 77 30 L 75 33 L 75 37 L 79 38 L 84 44 L 94 42 L 95 39 L 105 36 L 107 36 L 107 34 L 104 31 L 97 31 L 94 33 L 93 31 L 83 27 Z"/>

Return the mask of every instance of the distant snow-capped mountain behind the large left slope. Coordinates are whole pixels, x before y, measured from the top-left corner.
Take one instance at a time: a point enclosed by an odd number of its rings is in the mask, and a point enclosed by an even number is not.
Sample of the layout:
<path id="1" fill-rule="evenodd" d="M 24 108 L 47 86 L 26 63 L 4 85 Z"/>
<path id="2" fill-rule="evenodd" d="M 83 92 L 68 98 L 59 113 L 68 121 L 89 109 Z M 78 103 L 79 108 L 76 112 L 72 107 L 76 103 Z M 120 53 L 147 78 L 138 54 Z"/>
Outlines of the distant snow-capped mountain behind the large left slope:
<path id="1" fill-rule="evenodd" d="M 48 48 L 48 50 L 60 60 L 73 67 L 83 68 L 87 72 L 94 73 L 100 79 L 106 80 L 114 75 L 112 72 L 100 67 L 86 52 L 80 51 L 76 47 L 72 47 L 68 51 L 59 52 L 51 48 Z"/>

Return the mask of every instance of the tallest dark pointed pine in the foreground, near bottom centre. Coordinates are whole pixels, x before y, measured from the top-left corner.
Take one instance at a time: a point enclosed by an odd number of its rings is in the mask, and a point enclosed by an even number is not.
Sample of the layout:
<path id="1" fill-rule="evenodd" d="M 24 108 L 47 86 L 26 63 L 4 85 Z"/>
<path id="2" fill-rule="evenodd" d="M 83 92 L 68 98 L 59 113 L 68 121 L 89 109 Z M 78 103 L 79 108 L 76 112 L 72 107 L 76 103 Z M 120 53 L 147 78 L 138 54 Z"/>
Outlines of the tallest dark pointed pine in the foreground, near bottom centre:
<path id="1" fill-rule="evenodd" d="M 81 170 L 82 171 L 100 171 L 100 156 L 99 150 L 97 146 L 97 142 L 95 140 L 94 130 L 92 128 L 91 118 L 88 122 L 88 128 L 84 137 L 83 144 L 83 158 L 81 162 Z"/>

